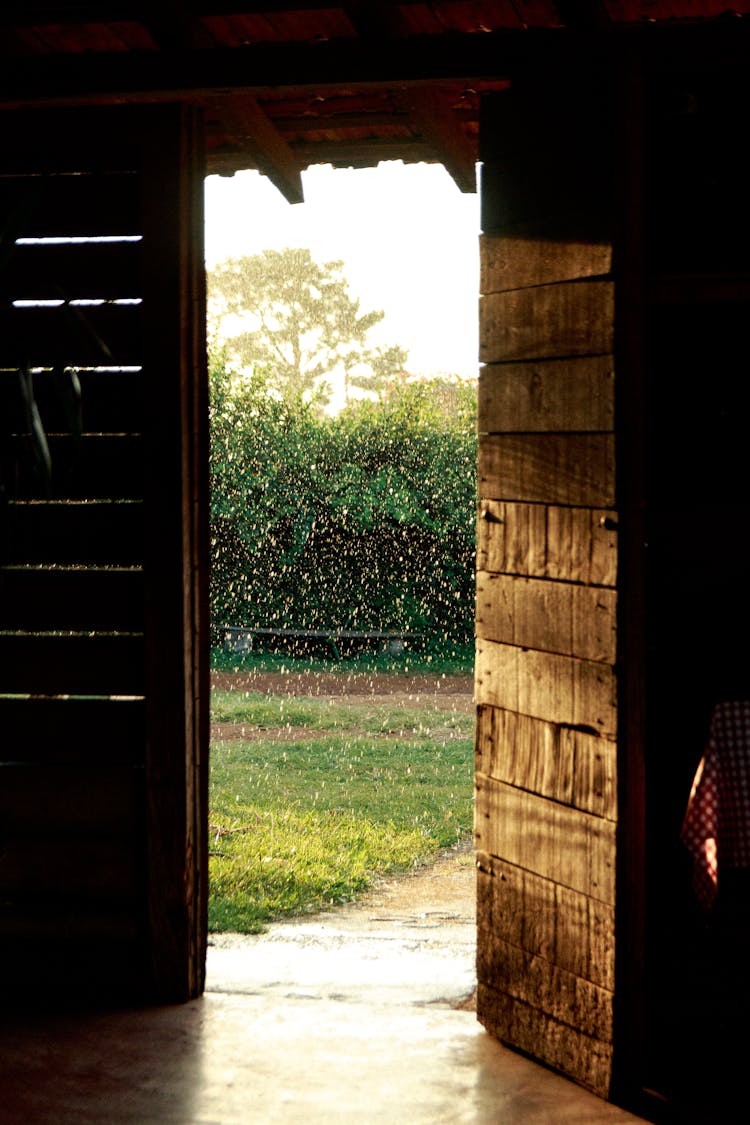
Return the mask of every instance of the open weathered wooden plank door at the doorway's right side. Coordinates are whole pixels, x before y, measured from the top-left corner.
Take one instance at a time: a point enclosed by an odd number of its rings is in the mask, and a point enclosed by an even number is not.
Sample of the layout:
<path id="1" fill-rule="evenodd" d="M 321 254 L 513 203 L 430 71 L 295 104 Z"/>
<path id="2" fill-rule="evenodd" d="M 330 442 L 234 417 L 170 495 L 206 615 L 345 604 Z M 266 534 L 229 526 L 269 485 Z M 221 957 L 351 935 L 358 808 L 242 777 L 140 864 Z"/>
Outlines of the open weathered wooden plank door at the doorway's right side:
<path id="1" fill-rule="evenodd" d="M 478 1012 L 611 1083 L 617 547 L 609 171 L 590 90 L 482 122 Z"/>

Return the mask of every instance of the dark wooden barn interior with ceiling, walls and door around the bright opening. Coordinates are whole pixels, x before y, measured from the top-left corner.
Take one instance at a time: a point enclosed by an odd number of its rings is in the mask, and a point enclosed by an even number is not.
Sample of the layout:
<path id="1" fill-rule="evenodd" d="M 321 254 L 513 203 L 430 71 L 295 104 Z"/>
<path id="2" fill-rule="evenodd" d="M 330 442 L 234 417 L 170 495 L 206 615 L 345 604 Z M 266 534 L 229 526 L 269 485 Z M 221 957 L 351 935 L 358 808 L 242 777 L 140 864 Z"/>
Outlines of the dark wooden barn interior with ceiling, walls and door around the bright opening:
<path id="1" fill-rule="evenodd" d="M 739 970 L 706 943 L 679 828 L 712 709 L 748 695 L 749 14 L 3 6 L 9 1037 L 29 1005 L 47 1043 L 71 1005 L 180 1004 L 188 1040 L 201 1018 L 202 178 L 256 168 L 298 204 L 310 164 L 427 160 L 482 204 L 479 1018 L 685 1119 L 713 1020 L 731 1083 Z"/>

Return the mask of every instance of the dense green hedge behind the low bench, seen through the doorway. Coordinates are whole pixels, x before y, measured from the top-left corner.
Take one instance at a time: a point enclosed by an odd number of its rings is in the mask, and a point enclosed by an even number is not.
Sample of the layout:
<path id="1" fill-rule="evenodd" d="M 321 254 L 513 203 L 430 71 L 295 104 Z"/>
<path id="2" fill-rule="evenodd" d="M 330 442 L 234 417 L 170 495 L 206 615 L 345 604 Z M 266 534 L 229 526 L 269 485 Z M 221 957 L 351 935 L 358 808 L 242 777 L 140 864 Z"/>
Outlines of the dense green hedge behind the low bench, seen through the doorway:
<path id="1" fill-rule="evenodd" d="M 405 384 L 334 417 L 211 374 L 215 626 L 473 629 L 476 388 Z"/>

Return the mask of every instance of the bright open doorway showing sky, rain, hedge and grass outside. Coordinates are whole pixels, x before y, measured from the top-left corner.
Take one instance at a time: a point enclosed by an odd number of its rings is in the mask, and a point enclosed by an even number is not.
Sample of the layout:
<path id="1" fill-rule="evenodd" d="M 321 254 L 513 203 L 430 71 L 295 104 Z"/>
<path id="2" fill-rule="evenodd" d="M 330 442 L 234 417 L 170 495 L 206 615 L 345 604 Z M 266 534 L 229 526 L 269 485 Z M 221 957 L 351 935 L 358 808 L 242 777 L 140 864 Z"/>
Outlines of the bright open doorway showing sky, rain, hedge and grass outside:
<path id="1" fill-rule="evenodd" d="M 299 935 L 374 882 L 381 922 L 453 922 L 470 992 L 478 209 L 436 165 L 310 177 L 296 208 L 254 173 L 207 183 L 209 988 L 213 964 L 218 987 L 237 972 L 223 934 L 292 917 Z M 470 917 L 410 882 L 394 922 L 396 876 L 436 858 L 435 893 L 448 880 Z"/>

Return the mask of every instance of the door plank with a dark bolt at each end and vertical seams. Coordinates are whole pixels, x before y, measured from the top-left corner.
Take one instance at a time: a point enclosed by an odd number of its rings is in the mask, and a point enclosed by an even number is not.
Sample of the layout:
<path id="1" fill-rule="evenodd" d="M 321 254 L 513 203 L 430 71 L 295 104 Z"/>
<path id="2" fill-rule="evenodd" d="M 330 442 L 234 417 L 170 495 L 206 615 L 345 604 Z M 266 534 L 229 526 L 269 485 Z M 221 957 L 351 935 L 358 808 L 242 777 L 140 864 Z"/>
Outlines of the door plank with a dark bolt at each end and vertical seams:
<path id="1" fill-rule="evenodd" d="M 495 574 L 614 586 L 617 532 L 611 512 L 485 500 L 477 567 Z"/>

